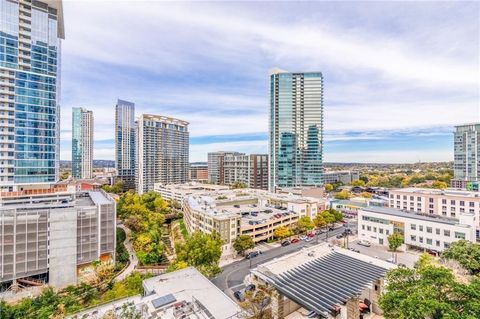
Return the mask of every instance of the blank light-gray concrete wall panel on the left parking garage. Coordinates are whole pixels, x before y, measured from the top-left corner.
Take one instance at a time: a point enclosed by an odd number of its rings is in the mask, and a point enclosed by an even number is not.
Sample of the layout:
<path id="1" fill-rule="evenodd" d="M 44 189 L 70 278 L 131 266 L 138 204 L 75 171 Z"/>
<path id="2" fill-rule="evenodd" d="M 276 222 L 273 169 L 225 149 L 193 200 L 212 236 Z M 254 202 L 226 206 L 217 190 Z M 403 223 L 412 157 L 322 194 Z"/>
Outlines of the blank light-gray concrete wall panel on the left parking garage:
<path id="1" fill-rule="evenodd" d="M 50 212 L 49 283 L 62 288 L 77 283 L 77 210 Z"/>

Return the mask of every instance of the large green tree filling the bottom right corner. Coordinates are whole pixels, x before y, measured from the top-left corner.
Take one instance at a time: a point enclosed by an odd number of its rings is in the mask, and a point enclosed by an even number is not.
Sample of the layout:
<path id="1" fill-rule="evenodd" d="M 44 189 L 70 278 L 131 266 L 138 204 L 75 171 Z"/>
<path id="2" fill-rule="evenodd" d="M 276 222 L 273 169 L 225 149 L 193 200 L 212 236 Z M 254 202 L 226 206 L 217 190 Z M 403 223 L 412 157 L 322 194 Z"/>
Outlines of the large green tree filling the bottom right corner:
<path id="1" fill-rule="evenodd" d="M 459 282 L 430 258 L 389 270 L 385 282 L 379 303 L 386 319 L 480 318 L 480 279 Z"/>

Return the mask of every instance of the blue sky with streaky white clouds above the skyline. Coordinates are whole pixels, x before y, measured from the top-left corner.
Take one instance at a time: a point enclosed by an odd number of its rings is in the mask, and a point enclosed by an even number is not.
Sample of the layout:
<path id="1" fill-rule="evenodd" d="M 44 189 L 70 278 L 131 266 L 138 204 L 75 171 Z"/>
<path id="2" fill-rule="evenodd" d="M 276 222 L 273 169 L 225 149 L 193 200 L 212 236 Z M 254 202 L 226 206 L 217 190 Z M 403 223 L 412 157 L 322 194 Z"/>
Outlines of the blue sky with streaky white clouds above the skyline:
<path id="1" fill-rule="evenodd" d="M 118 98 L 190 123 L 190 161 L 267 153 L 268 72 L 321 71 L 324 161 L 453 160 L 480 121 L 480 2 L 64 1 L 61 159 L 71 108 L 114 159 Z"/>

